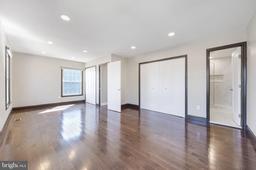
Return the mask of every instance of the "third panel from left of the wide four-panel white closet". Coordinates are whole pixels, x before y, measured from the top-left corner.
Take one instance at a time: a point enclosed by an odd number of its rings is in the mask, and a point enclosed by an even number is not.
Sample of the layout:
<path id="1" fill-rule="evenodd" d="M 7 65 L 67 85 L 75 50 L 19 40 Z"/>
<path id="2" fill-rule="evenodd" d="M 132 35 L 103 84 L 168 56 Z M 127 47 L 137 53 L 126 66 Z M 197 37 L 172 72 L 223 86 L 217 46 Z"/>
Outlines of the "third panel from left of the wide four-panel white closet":
<path id="1" fill-rule="evenodd" d="M 171 113 L 171 61 L 159 62 L 159 111 Z"/>

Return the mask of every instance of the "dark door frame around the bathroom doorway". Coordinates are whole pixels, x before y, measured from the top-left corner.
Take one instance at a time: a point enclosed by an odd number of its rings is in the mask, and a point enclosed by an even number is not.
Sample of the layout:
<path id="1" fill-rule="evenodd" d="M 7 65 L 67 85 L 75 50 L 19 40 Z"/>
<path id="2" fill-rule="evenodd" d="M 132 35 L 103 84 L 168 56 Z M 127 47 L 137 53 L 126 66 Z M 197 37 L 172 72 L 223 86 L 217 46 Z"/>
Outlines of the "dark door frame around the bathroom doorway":
<path id="1" fill-rule="evenodd" d="M 210 52 L 234 47 L 241 47 L 241 127 L 246 130 L 246 41 L 206 49 L 206 120 L 210 123 Z"/>

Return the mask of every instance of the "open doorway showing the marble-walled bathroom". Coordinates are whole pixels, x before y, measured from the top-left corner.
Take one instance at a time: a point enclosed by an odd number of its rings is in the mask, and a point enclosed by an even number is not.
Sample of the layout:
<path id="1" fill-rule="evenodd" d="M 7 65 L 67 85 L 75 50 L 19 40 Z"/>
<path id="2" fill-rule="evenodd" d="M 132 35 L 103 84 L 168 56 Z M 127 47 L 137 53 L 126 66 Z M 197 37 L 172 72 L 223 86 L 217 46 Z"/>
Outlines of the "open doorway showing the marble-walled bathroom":
<path id="1" fill-rule="evenodd" d="M 238 55 L 241 55 L 241 47 L 210 52 L 211 123 L 241 128 L 240 119 L 233 116 L 235 113 L 241 114 L 241 88 L 233 87 L 241 84 L 241 64 L 235 63 L 241 61 Z"/>

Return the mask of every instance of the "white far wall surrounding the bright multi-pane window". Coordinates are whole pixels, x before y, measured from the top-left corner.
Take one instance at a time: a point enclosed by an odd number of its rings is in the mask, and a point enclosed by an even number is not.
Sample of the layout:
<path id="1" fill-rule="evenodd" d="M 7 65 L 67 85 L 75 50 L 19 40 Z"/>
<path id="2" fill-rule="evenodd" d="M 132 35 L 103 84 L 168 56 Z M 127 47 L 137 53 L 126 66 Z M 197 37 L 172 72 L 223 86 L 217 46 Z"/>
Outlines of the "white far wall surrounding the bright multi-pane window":
<path id="1" fill-rule="evenodd" d="M 84 63 L 14 52 L 13 107 L 84 100 L 84 95 L 58 98 L 61 66 L 84 68 Z"/>

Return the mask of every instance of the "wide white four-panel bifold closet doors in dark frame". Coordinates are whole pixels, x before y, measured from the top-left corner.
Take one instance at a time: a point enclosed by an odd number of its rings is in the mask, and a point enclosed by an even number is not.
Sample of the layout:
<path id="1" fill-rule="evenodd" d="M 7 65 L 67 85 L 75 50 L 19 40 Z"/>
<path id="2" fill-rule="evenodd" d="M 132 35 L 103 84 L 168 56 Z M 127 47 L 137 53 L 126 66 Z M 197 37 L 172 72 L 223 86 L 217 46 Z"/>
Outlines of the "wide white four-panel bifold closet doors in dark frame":
<path id="1" fill-rule="evenodd" d="M 185 117 L 185 58 L 140 64 L 140 108 Z"/>

